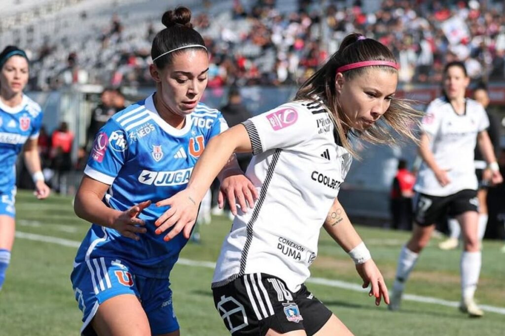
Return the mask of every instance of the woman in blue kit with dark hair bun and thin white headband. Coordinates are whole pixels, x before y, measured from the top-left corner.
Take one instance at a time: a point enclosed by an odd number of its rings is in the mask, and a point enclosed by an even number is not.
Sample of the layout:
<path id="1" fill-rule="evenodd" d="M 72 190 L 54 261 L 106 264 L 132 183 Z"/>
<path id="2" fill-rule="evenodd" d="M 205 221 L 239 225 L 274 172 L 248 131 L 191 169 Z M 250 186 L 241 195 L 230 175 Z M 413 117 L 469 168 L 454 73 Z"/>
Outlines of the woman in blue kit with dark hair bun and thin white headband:
<path id="1" fill-rule="evenodd" d="M 167 11 L 151 48 L 156 92 L 116 113 L 97 133 L 75 199 L 91 222 L 71 280 L 83 311 L 82 334 L 179 335 L 169 275 L 190 232 L 166 241 L 155 205 L 182 190 L 211 138 L 227 128 L 221 113 L 199 102 L 209 55 L 191 12 Z M 232 203 L 253 202 L 254 187 L 236 159 L 223 170 Z"/>

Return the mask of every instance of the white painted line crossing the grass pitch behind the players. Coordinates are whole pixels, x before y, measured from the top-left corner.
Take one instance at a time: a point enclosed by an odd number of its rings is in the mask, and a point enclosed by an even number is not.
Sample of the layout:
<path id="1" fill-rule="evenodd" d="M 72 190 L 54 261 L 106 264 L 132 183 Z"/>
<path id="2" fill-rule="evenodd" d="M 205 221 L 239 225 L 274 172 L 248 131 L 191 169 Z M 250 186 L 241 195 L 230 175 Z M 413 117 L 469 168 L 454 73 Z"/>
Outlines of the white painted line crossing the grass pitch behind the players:
<path id="1" fill-rule="evenodd" d="M 20 231 L 16 231 L 16 238 L 42 241 L 42 242 L 46 242 L 46 243 L 54 243 L 54 244 L 58 244 L 58 245 L 75 247 L 75 248 L 77 248 L 81 245 L 81 242 L 76 241 L 76 240 L 63 239 L 63 238 L 52 237 L 52 236 L 43 236 L 43 235 L 38 235 L 38 234 L 34 234 L 34 233 L 27 233 L 27 232 L 20 232 Z M 197 260 L 190 260 L 190 259 L 185 259 L 185 258 L 179 258 L 177 263 L 187 265 L 187 266 L 206 267 L 206 268 L 212 268 L 212 269 L 214 269 L 216 267 L 216 263 L 214 263 L 214 262 L 197 261 Z M 348 283 L 345 281 L 339 281 L 339 280 L 331 280 L 331 279 L 325 279 L 325 278 L 309 278 L 307 280 L 307 282 L 312 283 L 312 284 L 324 285 L 324 286 L 329 286 L 329 287 L 337 287 L 337 288 L 342 288 L 342 289 L 347 289 L 347 290 L 357 291 L 357 292 L 366 292 L 367 291 L 366 289 L 363 289 L 360 285 Z M 447 306 L 447 307 L 458 307 L 459 306 L 459 302 L 437 299 L 437 298 L 429 297 L 429 296 L 403 294 L 403 299 L 410 300 L 410 301 L 416 301 L 416 302 L 423 302 L 423 303 L 439 304 L 439 305 Z M 485 311 L 505 315 L 505 308 L 503 308 L 503 307 L 495 307 L 495 306 L 488 306 L 488 305 L 479 305 L 479 307 Z"/>

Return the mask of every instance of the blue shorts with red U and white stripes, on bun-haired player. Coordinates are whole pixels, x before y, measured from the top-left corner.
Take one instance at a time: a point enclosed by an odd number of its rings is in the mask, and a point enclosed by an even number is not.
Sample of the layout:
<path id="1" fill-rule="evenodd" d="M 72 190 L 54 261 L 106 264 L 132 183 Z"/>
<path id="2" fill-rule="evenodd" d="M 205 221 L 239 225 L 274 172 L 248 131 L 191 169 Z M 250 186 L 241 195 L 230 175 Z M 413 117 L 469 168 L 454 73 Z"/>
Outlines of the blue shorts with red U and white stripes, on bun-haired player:
<path id="1" fill-rule="evenodd" d="M 90 321 L 98 306 L 123 294 L 133 294 L 140 299 L 152 334 L 179 329 L 169 280 L 136 276 L 129 269 L 127 263 L 111 258 L 89 259 L 75 265 L 70 280 L 79 309 L 83 312 L 82 335 L 95 335 Z"/>

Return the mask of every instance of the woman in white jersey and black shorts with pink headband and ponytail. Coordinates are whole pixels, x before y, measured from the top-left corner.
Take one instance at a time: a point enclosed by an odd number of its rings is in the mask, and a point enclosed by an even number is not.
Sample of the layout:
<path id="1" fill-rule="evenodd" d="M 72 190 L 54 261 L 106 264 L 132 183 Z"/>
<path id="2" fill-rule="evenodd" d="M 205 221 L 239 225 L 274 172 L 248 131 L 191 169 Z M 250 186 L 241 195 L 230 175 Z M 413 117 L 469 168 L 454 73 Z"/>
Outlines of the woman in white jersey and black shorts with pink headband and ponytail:
<path id="1" fill-rule="evenodd" d="M 356 263 L 370 296 L 389 302 L 381 273 L 352 227 L 337 194 L 347 174 L 353 134 L 391 141 L 391 127 L 414 138 L 417 112 L 394 99 L 397 64 L 381 43 L 350 34 L 298 90 L 292 102 L 252 117 L 209 143 L 188 187 L 160 204 L 157 221 L 187 232 L 197 204 L 233 152 L 252 152 L 246 176 L 260 198 L 238 212 L 217 262 L 214 302 L 233 335 L 349 335 L 305 287 L 320 228 Z"/>

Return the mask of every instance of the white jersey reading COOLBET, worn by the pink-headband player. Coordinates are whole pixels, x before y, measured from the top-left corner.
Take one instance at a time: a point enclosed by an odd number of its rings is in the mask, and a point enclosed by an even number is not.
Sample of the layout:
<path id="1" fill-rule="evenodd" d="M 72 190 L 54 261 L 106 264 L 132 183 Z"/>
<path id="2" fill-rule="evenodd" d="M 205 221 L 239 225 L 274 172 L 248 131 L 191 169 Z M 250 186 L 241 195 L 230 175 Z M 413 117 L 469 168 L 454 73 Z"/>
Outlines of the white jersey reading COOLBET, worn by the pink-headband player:
<path id="1" fill-rule="evenodd" d="M 351 156 L 337 145 L 333 122 L 320 102 L 287 103 L 243 124 L 255 155 L 246 176 L 260 198 L 235 217 L 213 287 L 244 274 L 266 273 L 294 292 L 310 276 L 319 231 Z"/>

